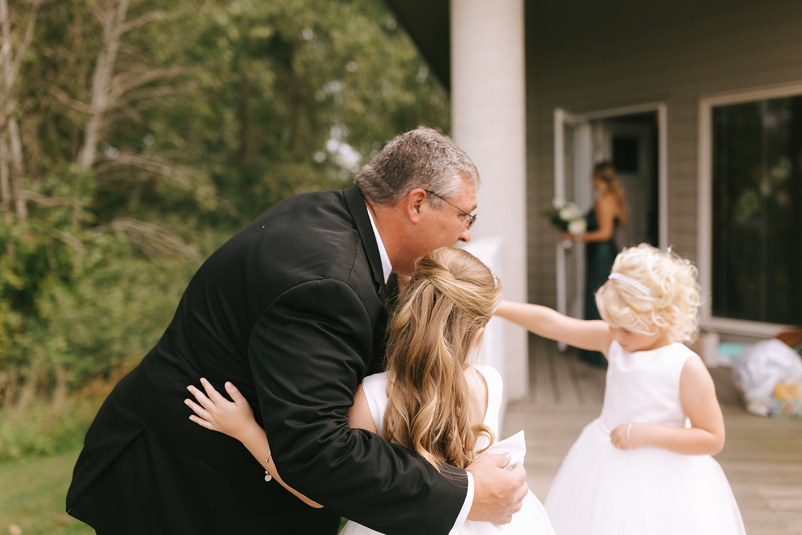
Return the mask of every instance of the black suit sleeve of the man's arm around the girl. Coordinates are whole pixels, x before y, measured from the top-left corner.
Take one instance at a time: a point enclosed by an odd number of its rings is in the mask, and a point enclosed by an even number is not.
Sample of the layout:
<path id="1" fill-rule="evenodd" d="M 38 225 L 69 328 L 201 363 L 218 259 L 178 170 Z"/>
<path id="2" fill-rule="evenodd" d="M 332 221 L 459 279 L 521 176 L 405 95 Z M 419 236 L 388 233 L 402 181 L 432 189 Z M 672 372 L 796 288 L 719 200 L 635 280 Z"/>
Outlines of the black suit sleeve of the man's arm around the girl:
<path id="1" fill-rule="evenodd" d="M 343 517 L 389 535 L 449 533 L 468 490 L 415 452 L 348 427 L 372 355 L 371 323 L 335 280 L 287 290 L 261 315 L 249 361 L 273 460 L 290 486 Z"/>

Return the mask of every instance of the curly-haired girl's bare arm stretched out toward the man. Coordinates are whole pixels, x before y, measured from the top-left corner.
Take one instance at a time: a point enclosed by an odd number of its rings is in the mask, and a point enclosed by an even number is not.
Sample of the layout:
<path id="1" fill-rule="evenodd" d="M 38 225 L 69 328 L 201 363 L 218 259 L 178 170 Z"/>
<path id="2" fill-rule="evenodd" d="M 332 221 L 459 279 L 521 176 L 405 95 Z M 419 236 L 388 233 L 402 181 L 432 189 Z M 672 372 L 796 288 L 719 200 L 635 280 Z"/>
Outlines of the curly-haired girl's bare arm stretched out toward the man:
<path id="1" fill-rule="evenodd" d="M 502 301 L 496 316 L 508 319 L 544 338 L 565 342 L 573 347 L 590 351 L 602 351 L 607 355 L 610 342 L 610 327 L 600 320 L 569 318 L 547 306 Z"/>

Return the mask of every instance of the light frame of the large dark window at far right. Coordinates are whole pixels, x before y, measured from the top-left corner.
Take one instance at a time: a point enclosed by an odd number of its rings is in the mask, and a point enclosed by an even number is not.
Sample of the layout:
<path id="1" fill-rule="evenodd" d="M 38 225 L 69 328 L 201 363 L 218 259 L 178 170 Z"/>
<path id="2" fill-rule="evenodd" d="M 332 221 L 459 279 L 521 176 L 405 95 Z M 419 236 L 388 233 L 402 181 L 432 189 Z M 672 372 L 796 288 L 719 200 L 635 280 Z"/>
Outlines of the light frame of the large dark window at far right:
<path id="1" fill-rule="evenodd" d="M 705 300 L 701 309 L 701 327 L 703 330 L 728 334 L 743 334 L 768 338 L 788 325 L 753 320 L 721 318 L 711 312 L 712 278 L 713 278 L 713 128 L 712 111 L 714 107 L 730 104 L 759 102 L 760 100 L 780 99 L 802 95 L 802 81 L 784 83 L 768 87 L 757 87 L 743 91 L 727 91 L 703 95 L 699 99 L 699 233 L 697 246 L 699 251 L 699 285 Z"/>

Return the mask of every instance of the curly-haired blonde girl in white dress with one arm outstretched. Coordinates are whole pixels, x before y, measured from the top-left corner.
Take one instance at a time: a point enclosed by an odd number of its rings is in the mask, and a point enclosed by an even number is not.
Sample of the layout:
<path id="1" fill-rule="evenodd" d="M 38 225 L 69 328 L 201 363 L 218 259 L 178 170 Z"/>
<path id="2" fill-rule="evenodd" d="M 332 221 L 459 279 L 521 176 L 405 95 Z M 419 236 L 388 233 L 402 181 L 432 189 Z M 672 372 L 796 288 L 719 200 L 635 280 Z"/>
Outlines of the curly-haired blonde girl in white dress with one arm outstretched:
<path id="1" fill-rule="evenodd" d="M 496 314 L 609 361 L 602 414 L 557 472 L 545 507 L 560 535 L 740 535 L 727 477 L 711 457 L 724 420 L 695 338 L 691 262 L 651 245 L 624 249 L 596 293 L 604 321 L 502 302 Z"/>

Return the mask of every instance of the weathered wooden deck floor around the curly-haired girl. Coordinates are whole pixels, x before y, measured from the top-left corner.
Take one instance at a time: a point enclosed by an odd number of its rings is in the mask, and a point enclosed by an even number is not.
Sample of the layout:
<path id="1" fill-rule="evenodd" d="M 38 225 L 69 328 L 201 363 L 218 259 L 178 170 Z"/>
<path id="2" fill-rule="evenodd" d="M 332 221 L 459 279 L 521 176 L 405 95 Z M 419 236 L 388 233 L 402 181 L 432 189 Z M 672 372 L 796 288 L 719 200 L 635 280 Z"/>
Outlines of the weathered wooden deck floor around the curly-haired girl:
<path id="1" fill-rule="evenodd" d="M 605 372 L 576 352 L 530 335 L 527 399 L 509 403 L 502 435 L 526 431 L 529 488 L 541 499 L 581 429 L 602 409 Z M 744 410 L 729 368 L 711 370 L 727 426 L 716 456 L 730 480 L 749 535 L 802 535 L 802 421 Z"/>

